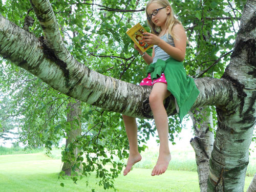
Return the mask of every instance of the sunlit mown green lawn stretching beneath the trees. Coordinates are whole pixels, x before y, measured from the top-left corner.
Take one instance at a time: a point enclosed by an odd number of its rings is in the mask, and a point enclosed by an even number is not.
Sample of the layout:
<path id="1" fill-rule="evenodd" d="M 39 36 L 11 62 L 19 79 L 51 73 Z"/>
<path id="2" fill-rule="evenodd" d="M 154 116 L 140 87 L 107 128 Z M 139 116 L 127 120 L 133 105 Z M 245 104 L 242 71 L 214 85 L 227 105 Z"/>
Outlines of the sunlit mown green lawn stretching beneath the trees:
<path id="1" fill-rule="evenodd" d="M 42 153 L 0 156 L 0 191 L 1 192 L 65 192 L 65 191 L 114 191 L 104 190 L 96 185 L 92 175 L 83 178 L 76 184 L 69 179 L 58 180 L 61 168 L 59 159 L 51 159 Z M 246 177 L 245 189 L 252 177 Z M 89 180 L 90 185 L 86 186 Z M 65 187 L 61 187 L 63 182 Z M 167 170 L 161 176 L 151 176 L 151 169 L 134 168 L 127 176 L 120 175 L 115 181 L 115 187 L 121 192 L 199 192 L 197 172 L 182 170 Z M 246 190 L 245 190 L 246 191 Z"/>

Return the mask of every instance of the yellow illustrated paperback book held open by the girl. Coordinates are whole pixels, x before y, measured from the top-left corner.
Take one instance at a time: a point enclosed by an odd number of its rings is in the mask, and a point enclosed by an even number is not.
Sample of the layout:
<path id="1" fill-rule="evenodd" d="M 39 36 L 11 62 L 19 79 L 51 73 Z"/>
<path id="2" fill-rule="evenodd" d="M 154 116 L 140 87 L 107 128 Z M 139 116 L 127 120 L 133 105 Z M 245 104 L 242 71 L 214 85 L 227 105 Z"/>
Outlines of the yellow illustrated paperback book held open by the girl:
<path id="1" fill-rule="evenodd" d="M 140 23 L 133 26 L 131 29 L 126 31 L 126 34 L 134 41 L 134 43 L 138 46 L 138 48 L 144 53 L 146 50 L 153 47 L 153 45 L 147 44 L 143 42 L 142 37 L 143 33 L 147 31 L 140 25 Z"/>

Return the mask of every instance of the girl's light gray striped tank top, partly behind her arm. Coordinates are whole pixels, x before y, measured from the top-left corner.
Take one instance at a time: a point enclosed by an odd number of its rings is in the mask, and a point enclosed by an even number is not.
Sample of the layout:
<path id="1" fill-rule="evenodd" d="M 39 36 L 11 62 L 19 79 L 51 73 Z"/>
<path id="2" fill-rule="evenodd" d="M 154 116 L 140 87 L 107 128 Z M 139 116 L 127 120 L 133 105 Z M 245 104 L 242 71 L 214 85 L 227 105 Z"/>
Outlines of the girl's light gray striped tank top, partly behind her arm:
<path id="1" fill-rule="evenodd" d="M 164 34 L 163 36 L 160 37 L 160 39 L 163 39 L 165 42 L 167 42 L 167 44 L 174 46 L 174 39 L 172 36 L 170 36 L 170 34 L 168 35 L 168 39 L 167 39 L 167 35 Z M 170 56 L 164 51 L 162 50 L 160 47 L 154 45 L 155 48 L 155 57 L 153 58 L 153 63 L 157 61 L 157 59 L 162 59 L 162 60 L 167 60 Z"/>

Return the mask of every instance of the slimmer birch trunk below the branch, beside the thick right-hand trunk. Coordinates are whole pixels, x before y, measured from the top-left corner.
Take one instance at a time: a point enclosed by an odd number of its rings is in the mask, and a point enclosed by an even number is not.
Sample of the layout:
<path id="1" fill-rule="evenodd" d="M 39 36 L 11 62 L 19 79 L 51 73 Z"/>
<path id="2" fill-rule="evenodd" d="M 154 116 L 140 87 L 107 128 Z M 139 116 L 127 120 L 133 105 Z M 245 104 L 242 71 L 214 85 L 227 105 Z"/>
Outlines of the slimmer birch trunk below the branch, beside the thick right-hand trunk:
<path id="1" fill-rule="evenodd" d="M 207 180 L 209 176 L 209 159 L 214 145 L 214 134 L 210 131 L 213 127 L 212 113 L 207 112 L 209 107 L 201 107 L 194 113 L 189 112 L 193 120 L 195 138 L 190 140 L 194 148 L 197 162 L 197 172 L 201 192 L 207 191 Z M 195 115 L 195 116 L 194 116 Z"/>

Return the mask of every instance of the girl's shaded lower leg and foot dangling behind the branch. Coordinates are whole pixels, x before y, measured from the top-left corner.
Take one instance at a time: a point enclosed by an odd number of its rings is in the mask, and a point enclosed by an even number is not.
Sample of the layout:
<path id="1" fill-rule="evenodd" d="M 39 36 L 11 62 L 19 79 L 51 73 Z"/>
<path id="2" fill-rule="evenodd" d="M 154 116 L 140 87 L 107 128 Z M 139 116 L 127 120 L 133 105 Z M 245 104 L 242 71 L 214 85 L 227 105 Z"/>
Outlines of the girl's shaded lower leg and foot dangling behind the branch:
<path id="1" fill-rule="evenodd" d="M 138 151 L 138 128 L 134 117 L 123 116 L 125 131 L 129 140 L 130 153 L 127 165 L 123 171 L 123 175 L 127 175 L 132 169 L 132 166 L 141 160 L 141 155 Z"/>

